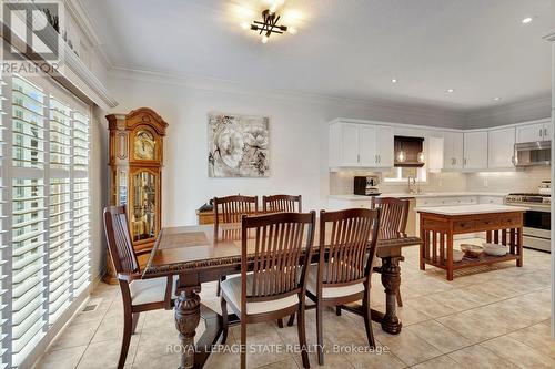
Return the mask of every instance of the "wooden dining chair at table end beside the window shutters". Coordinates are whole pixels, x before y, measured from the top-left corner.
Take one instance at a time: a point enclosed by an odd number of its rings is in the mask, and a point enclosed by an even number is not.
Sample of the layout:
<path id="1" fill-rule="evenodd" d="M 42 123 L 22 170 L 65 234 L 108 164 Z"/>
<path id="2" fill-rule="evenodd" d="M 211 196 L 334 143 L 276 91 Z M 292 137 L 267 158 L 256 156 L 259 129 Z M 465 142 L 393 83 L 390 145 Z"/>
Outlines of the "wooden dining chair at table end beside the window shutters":
<path id="1" fill-rule="evenodd" d="M 131 243 L 125 206 L 104 208 L 104 230 L 108 249 L 123 299 L 123 340 L 121 342 L 118 369 L 123 368 L 134 334 L 139 314 L 143 311 L 170 309 L 175 298 L 175 283 L 171 276 L 143 279 Z"/>

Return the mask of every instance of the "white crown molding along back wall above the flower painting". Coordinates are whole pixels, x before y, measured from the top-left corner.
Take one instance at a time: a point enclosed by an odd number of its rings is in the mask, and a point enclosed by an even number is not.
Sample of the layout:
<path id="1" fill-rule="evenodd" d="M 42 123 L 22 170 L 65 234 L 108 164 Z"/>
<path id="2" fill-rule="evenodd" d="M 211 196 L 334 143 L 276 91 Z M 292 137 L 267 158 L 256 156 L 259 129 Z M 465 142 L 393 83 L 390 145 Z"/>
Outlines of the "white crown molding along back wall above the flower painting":
<path id="1" fill-rule="evenodd" d="M 349 98 L 340 98 L 340 96 L 324 95 L 324 94 L 293 92 L 286 90 L 260 89 L 260 88 L 246 86 L 242 83 L 233 81 L 205 79 L 205 78 L 190 78 L 179 73 L 141 70 L 127 66 L 113 66 L 109 71 L 109 74 L 113 78 L 135 80 L 149 83 L 180 85 L 180 86 L 188 86 L 191 89 L 199 89 L 199 90 L 206 90 L 214 92 L 258 95 L 258 96 L 263 95 L 280 100 L 304 101 L 314 104 L 332 104 L 339 106 L 346 105 L 365 110 L 381 109 L 381 110 L 394 111 L 397 113 L 402 111 L 405 115 L 413 115 L 421 119 L 450 117 L 452 120 L 453 119 L 460 120 L 461 123 L 464 123 L 464 117 L 466 116 L 466 114 L 461 111 L 445 110 L 434 106 L 415 105 L 408 103 L 404 104 L 404 103 L 396 103 L 383 100 L 349 99 Z"/>

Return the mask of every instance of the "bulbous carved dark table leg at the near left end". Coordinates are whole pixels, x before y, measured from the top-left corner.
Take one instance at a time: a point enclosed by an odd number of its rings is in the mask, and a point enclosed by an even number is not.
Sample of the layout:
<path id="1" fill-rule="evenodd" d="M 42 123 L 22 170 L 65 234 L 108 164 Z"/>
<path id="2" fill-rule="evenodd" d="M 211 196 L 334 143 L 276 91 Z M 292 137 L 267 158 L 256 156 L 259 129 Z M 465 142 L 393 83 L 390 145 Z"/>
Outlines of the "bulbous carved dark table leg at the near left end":
<path id="1" fill-rule="evenodd" d="M 175 328 L 181 340 L 180 369 L 194 367 L 194 335 L 201 319 L 201 297 L 198 295 L 200 287 L 182 288 L 175 300 Z"/>

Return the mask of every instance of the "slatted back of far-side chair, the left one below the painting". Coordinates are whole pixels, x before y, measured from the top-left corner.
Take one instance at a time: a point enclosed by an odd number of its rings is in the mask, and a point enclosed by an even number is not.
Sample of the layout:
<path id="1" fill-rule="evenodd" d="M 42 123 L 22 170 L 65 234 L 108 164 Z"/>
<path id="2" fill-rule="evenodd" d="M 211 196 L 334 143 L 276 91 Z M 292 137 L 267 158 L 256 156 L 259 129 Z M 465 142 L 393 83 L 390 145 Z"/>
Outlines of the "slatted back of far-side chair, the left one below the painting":
<path id="1" fill-rule="evenodd" d="M 241 239 L 241 217 L 255 215 L 259 212 L 258 196 L 233 195 L 214 197 L 214 239 Z M 235 224 L 235 227 L 225 225 Z"/>

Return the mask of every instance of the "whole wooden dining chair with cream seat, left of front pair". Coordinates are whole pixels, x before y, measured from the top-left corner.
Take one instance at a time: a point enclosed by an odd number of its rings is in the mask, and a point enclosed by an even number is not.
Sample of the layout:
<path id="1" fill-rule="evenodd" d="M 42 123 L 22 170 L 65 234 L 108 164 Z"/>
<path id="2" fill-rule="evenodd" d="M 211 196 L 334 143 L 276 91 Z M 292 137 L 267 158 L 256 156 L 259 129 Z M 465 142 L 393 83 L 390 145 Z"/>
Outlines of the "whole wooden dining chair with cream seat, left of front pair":
<path id="1" fill-rule="evenodd" d="M 241 276 L 222 281 L 220 298 L 223 317 L 222 344 L 225 344 L 228 338 L 228 305 L 240 317 L 242 369 L 246 368 L 246 325 L 275 320 L 293 312 L 299 317 L 297 334 L 303 367 L 310 368 L 304 297 L 315 217 L 315 212 L 311 212 L 242 218 Z M 248 234 L 251 234 L 252 238 L 249 238 Z"/>

